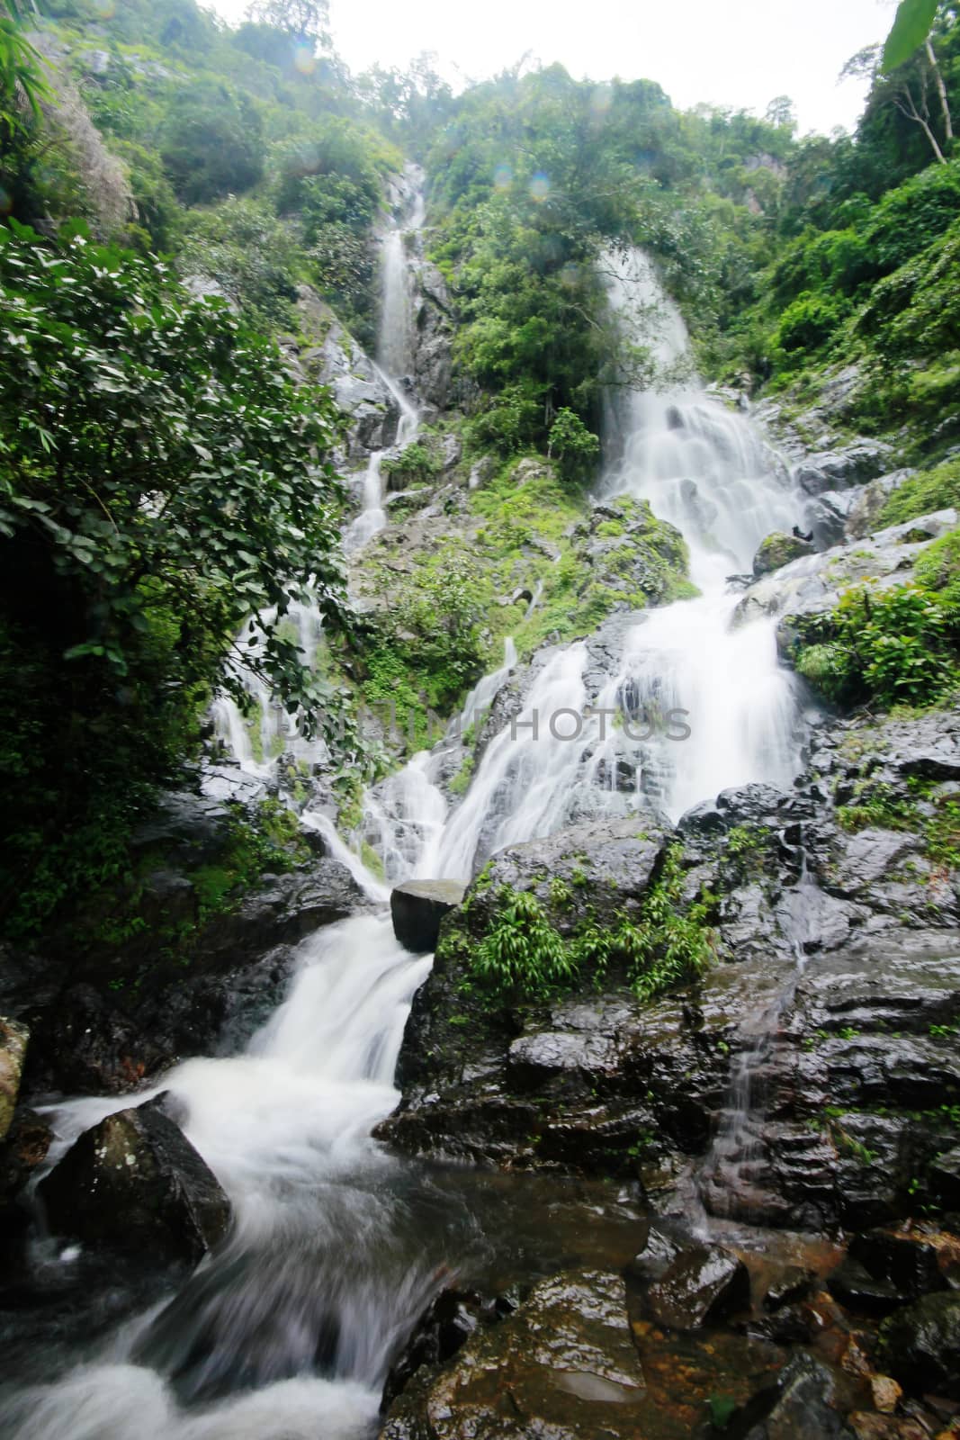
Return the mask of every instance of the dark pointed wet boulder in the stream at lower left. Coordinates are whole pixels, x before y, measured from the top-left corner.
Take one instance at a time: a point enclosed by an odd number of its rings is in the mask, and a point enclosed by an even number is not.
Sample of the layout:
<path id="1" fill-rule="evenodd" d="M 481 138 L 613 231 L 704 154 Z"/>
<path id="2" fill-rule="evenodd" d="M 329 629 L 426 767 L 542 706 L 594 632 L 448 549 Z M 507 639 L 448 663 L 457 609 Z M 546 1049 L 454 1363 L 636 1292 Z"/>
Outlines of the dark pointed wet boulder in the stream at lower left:
<path id="1" fill-rule="evenodd" d="M 230 1205 L 161 1097 L 85 1130 L 40 1182 L 55 1234 L 196 1264 L 223 1237 Z"/>

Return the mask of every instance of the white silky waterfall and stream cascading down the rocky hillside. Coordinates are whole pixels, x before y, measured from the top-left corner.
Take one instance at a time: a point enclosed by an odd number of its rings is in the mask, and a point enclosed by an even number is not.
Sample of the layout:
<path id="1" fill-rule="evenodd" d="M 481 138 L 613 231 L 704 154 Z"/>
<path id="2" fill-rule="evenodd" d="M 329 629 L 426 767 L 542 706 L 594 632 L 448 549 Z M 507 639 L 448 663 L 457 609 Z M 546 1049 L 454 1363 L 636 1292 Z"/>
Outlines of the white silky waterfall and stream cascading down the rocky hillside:
<path id="1" fill-rule="evenodd" d="M 422 216 L 417 197 L 384 239 L 380 363 L 391 379 L 409 369 L 403 236 Z M 610 302 L 625 325 L 656 315 L 656 359 L 669 369 L 687 337 L 649 264 L 640 255 L 610 258 L 607 271 Z M 403 403 L 409 438 L 416 410 Z M 776 456 L 692 379 L 617 393 L 607 428 L 602 497 L 649 501 L 682 530 L 699 598 L 626 625 L 604 652 L 599 683 L 590 678 L 590 639 L 547 652 L 520 716 L 489 740 L 453 808 L 438 785 L 449 740 L 370 792 L 364 832 L 389 884 L 466 878 L 502 845 L 545 837 L 577 818 L 651 806 L 678 818 L 725 786 L 789 782 L 797 769 L 799 706 L 777 665 L 773 625 L 733 628 L 737 592 L 727 586 L 727 576 L 750 567 L 763 536 L 789 530 L 796 516 Z M 384 523 L 379 465 L 371 456 L 351 546 Z M 315 621 L 309 612 L 292 619 L 309 652 Z M 484 713 L 515 672 L 508 642 L 502 665 L 468 698 L 463 723 Z M 240 768 L 263 778 L 278 743 L 302 742 L 278 720 L 268 694 L 256 698 L 263 717 L 256 753 L 227 701 L 216 719 Z M 648 734 L 639 724 L 626 733 L 610 721 L 613 711 L 638 720 L 651 707 L 684 713 L 672 734 L 656 727 Z M 466 1179 L 443 1191 L 443 1181 L 391 1159 L 370 1139 L 396 1104 L 403 1027 L 430 958 L 397 945 L 381 903 L 387 886 L 330 819 L 308 811 L 304 824 L 350 865 L 370 909 L 301 945 L 286 999 L 242 1054 L 187 1060 L 141 1097 L 171 1094 L 187 1136 L 232 1201 L 230 1237 L 186 1286 L 83 1364 L 14 1398 L 9 1433 L 16 1440 L 367 1437 L 387 1367 L 442 1283 L 450 1253 L 489 1248 L 489 1238 L 478 1240 L 484 1225 L 474 1202 L 456 1189 Z M 58 1106 L 56 1153 L 128 1104 L 130 1096 Z M 556 1179 L 550 1189 L 556 1204 Z M 494 1195 L 491 1214 L 502 1211 L 501 1200 Z M 522 1210 L 510 1210 L 511 1225 L 522 1225 Z M 544 1225 L 537 1228 L 533 1248 L 545 1243 Z M 583 1230 L 580 1212 L 577 1234 Z M 50 1263 L 75 1263 L 73 1251 L 46 1244 Z"/>

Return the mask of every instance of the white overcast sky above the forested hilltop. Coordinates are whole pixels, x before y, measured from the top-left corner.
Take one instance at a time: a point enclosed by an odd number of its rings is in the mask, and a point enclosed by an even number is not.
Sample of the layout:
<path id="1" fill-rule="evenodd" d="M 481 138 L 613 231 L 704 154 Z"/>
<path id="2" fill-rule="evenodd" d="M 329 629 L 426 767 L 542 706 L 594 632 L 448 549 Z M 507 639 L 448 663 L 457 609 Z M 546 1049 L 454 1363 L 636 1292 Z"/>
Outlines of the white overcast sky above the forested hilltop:
<path id="1" fill-rule="evenodd" d="M 213 0 L 242 19 L 248 0 Z M 763 114 L 790 95 L 800 131 L 852 128 L 864 86 L 838 84 L 851 55 L 881 40 L 895 0 L 330 0 L 351 71 L 403 68 L 435 50 L 448 79 L 485 79 L 531 50 L 580 79 L 659 81 L 675 105 Z M 458 86 L 459 88 L 459 86 Z"/>

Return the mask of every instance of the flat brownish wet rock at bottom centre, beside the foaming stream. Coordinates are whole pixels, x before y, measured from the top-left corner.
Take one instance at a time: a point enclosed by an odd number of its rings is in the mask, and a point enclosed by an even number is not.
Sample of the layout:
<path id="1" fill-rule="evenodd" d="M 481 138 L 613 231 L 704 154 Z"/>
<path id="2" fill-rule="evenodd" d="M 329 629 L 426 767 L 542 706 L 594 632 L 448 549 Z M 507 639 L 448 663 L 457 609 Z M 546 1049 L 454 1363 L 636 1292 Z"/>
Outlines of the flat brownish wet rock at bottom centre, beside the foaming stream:
<path id="1" fill-rule="evenodd" d="M 381 1440 L 597 1440 L 642 1428 L 646 1391 L 617 1274 L 541 1282 L 452 1365 L 420 1371 L 390 1408 Z"/>

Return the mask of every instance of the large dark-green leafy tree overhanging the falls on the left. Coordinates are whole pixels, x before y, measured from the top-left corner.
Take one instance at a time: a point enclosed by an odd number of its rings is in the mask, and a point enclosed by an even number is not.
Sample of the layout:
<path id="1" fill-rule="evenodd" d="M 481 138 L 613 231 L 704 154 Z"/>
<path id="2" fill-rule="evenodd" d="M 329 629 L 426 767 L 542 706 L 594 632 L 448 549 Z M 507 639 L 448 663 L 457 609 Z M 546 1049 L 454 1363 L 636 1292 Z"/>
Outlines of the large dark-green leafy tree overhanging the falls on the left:
<path id="1" fill-rule="evenodd" d="M 322 392 L 222 302 L 82 235 L 0 232 L 0 364 L 4 691 L 22 690 L 1 904 L 24 929 L 122 868 L 212 688 L 242 694 L 249 613 L 275 608 L 256 664 L 312 723 L 327 688 L 279 625 L 311 577 L 338 624 L 340 487 Z"/>

